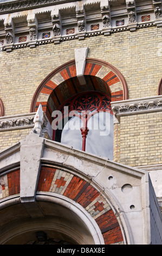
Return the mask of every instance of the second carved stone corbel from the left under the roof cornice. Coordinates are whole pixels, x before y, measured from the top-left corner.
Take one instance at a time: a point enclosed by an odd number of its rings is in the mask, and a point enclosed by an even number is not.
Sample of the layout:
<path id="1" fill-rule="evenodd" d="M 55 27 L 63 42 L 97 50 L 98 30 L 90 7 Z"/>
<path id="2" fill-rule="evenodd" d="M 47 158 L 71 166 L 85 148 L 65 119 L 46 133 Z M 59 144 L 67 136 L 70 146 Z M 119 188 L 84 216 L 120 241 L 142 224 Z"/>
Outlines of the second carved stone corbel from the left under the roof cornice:
<path id="1" fill-rule="evenodd" d="M 27 16 L 27 22 L 29 27 L 29 46 L 30 48 L 36 47 L 37 36 L 38 36 L 38 22 L 35 14 Z"/>

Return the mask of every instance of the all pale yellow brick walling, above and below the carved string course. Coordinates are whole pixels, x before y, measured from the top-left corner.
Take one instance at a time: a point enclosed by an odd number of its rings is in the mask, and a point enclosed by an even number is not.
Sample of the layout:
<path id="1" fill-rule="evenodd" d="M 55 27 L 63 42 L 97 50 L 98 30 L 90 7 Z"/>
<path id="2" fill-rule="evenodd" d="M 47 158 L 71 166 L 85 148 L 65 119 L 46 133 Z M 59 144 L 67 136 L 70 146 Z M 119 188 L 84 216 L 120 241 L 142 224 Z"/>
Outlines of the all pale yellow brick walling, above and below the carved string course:
<path id="1" fill-rule="evenodd" d="M 88 57 L 105 60 L 121 72 L 129 99 L 156 96 L 162 77 L 162 57 L 158 56 L 161 36 L 162 28 L 150 27 L 0 52 L 0 98 L 5 115 L 29 113 L 43 79 L 74 59 L 74 49 L 80 47 L 89 48 Z M 160 113 L 121 117 L 121 123 L 114 126 L 114 161 L 132 166 L 161 163 L 160 125 Z M 28 131 L 0 132 L 1 149 L 21 141 Z"/>

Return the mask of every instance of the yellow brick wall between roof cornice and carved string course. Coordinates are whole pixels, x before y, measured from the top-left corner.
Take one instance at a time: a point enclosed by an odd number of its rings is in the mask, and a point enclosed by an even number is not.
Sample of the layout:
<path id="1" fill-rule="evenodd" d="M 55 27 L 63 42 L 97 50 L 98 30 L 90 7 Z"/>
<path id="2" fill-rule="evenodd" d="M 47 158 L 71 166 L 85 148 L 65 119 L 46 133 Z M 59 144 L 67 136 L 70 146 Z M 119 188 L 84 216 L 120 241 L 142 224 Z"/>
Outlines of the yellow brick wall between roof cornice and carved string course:
<path id="1" fill-rule="evenodd" d="M 29 113 L 31 100 L 42 80 L 58 66 L 74 59 L 74 49 L 79 47 L 88 47 L 88 57 L 105 60 L 124 75 L 129 99 L 157 95 L 162 76 L 162 57 L 158 57 L 161 35 L 162 28 L 150 27 L 133 33 L 1 52 L 0 97 L 5 115 Z"/>

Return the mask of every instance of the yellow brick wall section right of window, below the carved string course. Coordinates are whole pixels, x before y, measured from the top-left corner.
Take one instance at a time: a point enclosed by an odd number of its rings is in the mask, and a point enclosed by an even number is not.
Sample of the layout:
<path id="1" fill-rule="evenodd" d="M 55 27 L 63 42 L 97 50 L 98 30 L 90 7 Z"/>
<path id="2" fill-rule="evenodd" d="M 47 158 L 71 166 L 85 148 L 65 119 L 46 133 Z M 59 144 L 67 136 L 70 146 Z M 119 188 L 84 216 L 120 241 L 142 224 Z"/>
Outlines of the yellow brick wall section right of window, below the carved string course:
<path id="1" fill-rule="evenodd" d="M 129 166 L 162 163 L 162 112 L 127 115 L 115 124 L 114 161 Z M 119 142 L 119 143 L 118 143 Z"/>

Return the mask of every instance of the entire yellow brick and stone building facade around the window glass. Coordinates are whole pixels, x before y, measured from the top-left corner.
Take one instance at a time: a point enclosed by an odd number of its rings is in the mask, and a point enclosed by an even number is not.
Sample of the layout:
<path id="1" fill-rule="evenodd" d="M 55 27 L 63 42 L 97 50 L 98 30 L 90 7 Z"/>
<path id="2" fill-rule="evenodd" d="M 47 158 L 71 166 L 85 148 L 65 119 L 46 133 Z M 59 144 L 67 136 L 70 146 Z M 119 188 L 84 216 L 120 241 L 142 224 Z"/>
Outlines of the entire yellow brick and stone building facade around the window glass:
<path id="1" fill-rule="evenodd" d="M 159 0 L 0 1 L 0 244 L 162 243 L 161 34 Z M 83 96 L 113 145 L 55 139 Z"/>

